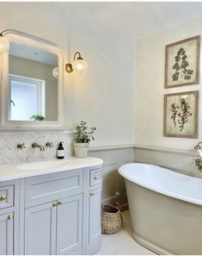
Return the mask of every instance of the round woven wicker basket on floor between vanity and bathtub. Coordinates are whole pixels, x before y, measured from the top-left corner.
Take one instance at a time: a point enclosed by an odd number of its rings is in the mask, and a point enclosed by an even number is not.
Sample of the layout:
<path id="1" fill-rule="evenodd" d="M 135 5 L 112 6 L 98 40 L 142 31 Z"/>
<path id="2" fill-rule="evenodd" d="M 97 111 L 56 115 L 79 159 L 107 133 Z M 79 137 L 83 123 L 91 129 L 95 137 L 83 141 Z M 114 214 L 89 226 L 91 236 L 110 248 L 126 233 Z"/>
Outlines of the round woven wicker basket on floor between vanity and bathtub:
<path id="1" fill-rule="evenodd" d="M 105 205 L 101 209 L 101 233 L 115 234 L 123 223 L 122 215 L 119 209 L 112 205 Z"/>

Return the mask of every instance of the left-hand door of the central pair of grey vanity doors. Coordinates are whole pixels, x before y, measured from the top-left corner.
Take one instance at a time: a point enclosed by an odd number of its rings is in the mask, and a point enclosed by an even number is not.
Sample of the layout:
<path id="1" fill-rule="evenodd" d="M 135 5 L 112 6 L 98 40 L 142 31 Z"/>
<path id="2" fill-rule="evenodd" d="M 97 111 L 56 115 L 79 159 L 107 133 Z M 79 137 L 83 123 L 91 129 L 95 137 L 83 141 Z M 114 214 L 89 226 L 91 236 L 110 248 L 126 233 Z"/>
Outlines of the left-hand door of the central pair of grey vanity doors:
<path id="1" fill-rule="evenodd" d="M 25 210 L 25 254 L 56 254 L 56 215 L 52 203 Z"/>

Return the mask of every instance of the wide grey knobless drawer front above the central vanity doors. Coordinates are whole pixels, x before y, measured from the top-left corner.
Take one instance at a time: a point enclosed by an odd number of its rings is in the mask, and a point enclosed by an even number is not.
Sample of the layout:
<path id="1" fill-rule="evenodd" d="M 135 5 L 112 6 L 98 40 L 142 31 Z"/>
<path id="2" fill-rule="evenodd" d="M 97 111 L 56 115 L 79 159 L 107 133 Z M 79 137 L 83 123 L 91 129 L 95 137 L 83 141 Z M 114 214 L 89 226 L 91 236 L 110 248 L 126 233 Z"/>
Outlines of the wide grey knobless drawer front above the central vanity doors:
<path id="1" fill-rule="evenodd" d="M 26 208 L 83 192 L 83 169 L 26 178 Z"/>

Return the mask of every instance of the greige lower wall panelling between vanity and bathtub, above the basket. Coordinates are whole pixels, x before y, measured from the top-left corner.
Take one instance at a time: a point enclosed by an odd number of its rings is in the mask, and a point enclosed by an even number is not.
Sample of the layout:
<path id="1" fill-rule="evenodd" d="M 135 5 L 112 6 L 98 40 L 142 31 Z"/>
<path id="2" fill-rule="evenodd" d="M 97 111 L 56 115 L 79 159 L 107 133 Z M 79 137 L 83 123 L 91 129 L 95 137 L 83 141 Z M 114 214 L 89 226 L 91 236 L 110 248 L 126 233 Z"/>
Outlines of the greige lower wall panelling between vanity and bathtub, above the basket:
<path id="1" fill-rule="evenodd" d="M 119 175 L 120 165 L 134 161 L 133 148 L 107 149 L 90 151 L 89 156 L 101 158 L 104 161 L 102 168 L 102 203 L 117 201 L 126 203 L 124 178 Z M 119 197 L 115 196 L 119 192 Z"/>

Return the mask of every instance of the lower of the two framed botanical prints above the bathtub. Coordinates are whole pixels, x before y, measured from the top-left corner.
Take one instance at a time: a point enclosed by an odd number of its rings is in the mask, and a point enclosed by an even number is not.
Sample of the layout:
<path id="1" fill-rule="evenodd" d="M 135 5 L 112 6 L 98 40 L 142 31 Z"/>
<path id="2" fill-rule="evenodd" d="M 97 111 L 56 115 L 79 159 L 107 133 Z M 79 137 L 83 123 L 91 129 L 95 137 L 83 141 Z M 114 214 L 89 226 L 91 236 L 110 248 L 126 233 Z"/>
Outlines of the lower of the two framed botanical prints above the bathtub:
<path id="1" fill-rule="evenodd" d="M 164 95 L 164 136 L 198 138 L 198 98 L 199 91 Z"/>

